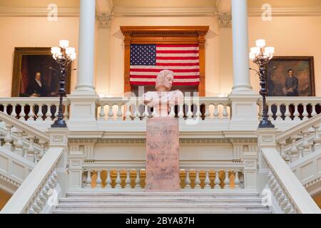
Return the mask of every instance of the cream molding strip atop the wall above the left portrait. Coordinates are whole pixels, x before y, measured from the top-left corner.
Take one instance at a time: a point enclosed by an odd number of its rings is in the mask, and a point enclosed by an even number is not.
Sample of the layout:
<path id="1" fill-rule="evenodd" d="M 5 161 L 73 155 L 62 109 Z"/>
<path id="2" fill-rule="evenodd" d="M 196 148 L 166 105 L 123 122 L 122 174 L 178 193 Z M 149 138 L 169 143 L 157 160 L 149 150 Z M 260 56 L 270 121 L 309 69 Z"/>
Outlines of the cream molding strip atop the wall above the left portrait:
<path id="1" fill-rule="evenodd" d="M 50 13 L 47 8 L 16 8 L 0 6 L 0 16 L 35 16 L 46 17 Z M 58 17 L 78 17 L 78 8 L 58 8 Z"/>

